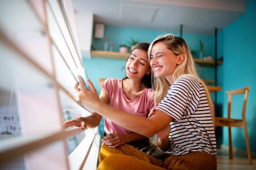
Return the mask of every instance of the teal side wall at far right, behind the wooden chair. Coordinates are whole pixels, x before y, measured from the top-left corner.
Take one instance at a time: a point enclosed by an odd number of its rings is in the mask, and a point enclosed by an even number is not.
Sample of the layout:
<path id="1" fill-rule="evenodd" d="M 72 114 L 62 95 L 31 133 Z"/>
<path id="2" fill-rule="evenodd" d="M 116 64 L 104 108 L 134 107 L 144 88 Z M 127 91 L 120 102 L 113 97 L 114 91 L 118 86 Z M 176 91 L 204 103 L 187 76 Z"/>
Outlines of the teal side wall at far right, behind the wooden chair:
<path id="1" fill-rule="evenodd" d="M 227 116 L 227 95 L 225 91 L 250 86 L 246 120 L 251 151 L 256 151 L 256 1 L 247 2 L 246 13 L 240 16 L 223 31 L 223 116 Z M 242 102 L 241 97 L 234 102 Z M 241 104 L 233 105 L 232 114 L 241 118 Z M 243 130 L 232 128 L 233 146 L 246 149 Z M 223 145 L 228 146 L 228 129 L 223 129 Z"/>

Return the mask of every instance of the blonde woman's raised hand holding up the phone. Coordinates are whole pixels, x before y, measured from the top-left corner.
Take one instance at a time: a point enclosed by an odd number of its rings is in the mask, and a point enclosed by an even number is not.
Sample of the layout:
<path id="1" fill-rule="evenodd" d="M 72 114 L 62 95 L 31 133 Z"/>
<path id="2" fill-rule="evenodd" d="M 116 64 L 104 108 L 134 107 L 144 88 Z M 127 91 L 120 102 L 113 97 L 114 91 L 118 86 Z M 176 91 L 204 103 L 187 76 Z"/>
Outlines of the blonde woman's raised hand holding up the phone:
<path id="1" fill-rule="evenodd" d="M 94 111 L 94 107 L 96 107 L 97 103 L 100 103 L 100 98 L 98 97 L 97 90 L 93 86 L 92 82 L 89 78 L 86 79 L 90 90 L 86 90 L 84 87 L 84 82 L 80 75 L 77 76 L 79 82 L 75 84 L 75 92 L 81 104 L 85 105 L 86 108 Z M 79 88 L 80 86 L 80 88 Z"/>

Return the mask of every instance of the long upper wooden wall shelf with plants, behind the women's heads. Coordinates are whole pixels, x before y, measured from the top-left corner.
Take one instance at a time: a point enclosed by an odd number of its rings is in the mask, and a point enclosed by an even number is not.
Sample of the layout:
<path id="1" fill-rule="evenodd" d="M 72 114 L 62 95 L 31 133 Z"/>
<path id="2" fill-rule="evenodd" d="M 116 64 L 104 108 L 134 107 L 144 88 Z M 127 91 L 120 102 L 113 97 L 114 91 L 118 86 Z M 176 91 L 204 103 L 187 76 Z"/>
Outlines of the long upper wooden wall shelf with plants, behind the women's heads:
<path id="1" fill-rule="evenodd" d="M 130 53 L 119 53 L 119 52 L 105 52 L 100 50 L 92 50 L 92 58 L 105 58 L 105 59 L 123 59 L 126 60 L 130 56 Z M 199 66 L 204 67 L 214 67 L 214 60 L 203 60 L 203 59 L 193 59 L 195 63 Z M 221 65 L 223 62 L 218 61 L 217 64 Z"/>

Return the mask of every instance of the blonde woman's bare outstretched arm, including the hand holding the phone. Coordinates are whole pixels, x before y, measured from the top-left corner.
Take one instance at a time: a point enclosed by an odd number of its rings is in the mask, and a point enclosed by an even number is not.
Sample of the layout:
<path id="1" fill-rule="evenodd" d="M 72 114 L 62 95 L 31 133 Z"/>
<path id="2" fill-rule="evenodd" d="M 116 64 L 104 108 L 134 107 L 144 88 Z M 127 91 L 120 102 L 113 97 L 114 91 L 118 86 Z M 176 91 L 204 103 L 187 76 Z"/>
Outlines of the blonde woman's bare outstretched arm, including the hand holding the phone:
<path id="1" fill-rule="evenodd" d="M 90 86 L 90 91 L 86 90 L 83 86 L 84 83 L 82 82 L 81 76 L 78 76 L 78 78 L 81 90 L 78 88 L 79 83 L 76 83 L 75 91 L 79 97 L 80 103 L 84 104 L 92 111 L 101 114 L 101 116 L 109 118 L 109 120 L 123 126 L 123 128 L 145 135 L 146 137 L 152 137 L 173 120 L 171 116 L 168 116 L 159 109 L 156 109 L 154 115 L 150 118 L 144 118 L 109 107 L 99 99 L 97 91 L 89 79 L 87 79 L 87 82 Z"/>

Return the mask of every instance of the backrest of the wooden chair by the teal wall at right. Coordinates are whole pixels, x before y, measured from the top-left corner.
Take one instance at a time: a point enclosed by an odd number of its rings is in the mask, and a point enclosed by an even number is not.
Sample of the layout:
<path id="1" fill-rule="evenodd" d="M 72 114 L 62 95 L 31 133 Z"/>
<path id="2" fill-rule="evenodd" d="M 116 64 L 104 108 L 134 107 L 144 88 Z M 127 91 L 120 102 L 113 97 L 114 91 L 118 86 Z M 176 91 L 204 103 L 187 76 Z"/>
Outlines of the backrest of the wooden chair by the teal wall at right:
<path id="1" fill-rule="evenodd" d="M 245 120 L 245 113 L 246 113 L 249 91 L 250 91 L 250 86 L 247 86 L 245 88 L 240 88 L 237 90 L 226 91 L 226 94 L 228 94 L 228 118 L 231 118 L 232 95 L 245 94 L 245 97 L 243 99 L 243 108 L 242 108 L 242 119 Z"/>

